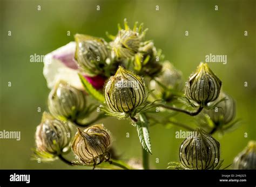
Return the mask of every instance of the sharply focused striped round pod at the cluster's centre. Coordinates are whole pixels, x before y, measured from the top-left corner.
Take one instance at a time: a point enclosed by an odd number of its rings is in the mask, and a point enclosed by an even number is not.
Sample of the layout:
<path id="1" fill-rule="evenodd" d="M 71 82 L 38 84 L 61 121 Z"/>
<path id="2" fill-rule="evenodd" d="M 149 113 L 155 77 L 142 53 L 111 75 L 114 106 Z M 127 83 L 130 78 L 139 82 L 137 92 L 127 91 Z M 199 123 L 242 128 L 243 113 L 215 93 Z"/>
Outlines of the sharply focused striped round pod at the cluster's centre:
<path id="1" fill-rule="evenodd" d="M 141 105 L 145 97 L 142 77 L 120 66 L 105 86 L 105 101 L 113 112 L 129 113 Z"/>

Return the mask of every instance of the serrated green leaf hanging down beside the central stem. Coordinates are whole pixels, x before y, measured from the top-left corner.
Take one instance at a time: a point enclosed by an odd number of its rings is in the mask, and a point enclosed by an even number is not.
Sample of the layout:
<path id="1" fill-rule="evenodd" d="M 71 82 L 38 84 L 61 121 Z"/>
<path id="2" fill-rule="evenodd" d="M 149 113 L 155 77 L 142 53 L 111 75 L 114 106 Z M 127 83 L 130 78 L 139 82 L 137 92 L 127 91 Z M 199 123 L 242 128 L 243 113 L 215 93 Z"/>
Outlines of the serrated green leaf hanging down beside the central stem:
<path id="1" fill-rule="evenodd" d="M 143 114 L 139 115 L 139 121 L 135 124 L 137 127 L 137 132 L 139 136 L 139 141 L 142 147 L 150 154 L 151 153 L 151 143 L 149 135 L 149 122 Z"/>

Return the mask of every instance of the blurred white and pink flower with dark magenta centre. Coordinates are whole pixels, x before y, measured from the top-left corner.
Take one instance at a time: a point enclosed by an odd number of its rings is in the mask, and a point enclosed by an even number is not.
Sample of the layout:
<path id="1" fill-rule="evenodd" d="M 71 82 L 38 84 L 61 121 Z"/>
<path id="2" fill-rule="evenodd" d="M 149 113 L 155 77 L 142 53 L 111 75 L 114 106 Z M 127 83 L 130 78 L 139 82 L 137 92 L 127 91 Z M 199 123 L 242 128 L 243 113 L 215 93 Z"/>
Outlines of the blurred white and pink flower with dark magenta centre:
<path id="1" fill-rule="evenodd" d="M 53 89 L 60 80 L 68 82 L 72 87 L 84 90 L 78 76 L 78 66 L 74 59 L 76 42 L 62 46 L 55 51 L 45 55 L 43 74 L 49 89 Z M 101 75 L 83 75 L 96 89 L 102 89 L 105 78 Z"/>

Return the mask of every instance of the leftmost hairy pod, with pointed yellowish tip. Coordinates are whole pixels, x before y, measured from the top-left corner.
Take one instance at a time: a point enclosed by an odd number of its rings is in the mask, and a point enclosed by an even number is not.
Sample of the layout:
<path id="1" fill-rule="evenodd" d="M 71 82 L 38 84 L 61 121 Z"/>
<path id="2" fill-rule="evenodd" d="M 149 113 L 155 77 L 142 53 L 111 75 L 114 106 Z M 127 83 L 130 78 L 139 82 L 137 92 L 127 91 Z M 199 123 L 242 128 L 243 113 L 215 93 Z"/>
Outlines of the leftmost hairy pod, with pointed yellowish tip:
<path id="1" fill-rule="evenodd" d="M 71 140 L 70 124 L 53 118 L 44 112 L 42 122 L 36 129 L 36 147 L 39 152 L 58 155 L 68 147 Z"/>

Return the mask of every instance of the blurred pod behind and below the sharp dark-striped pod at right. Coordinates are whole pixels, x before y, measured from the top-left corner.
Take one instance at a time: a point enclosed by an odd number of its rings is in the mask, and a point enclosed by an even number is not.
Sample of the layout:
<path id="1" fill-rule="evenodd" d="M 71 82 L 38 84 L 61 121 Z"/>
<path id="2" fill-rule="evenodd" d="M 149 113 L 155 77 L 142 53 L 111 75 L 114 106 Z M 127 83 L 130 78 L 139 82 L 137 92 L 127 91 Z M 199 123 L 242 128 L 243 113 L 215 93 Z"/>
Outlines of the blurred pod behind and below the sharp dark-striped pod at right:
<path id="1" fill-rule="evenodd" d="M 221 99 L 224 99 L 220 102 Z M 218 103 L 219 102 L 219 103 Z M 228 124 L 235 117 L 235 101 L 224 92 L 220 92 L 220 96 L 214 102 L 209 104 L 218 103 L 214 109 L 204 109 L 204 113 L 207 114 L 214 124 Z M 217 107 L 217 108 L 216 108 Z"/>

